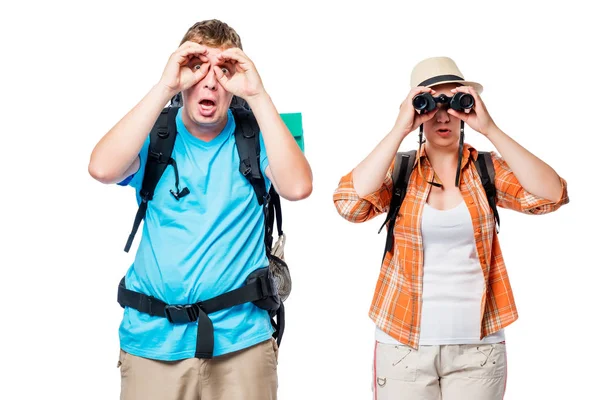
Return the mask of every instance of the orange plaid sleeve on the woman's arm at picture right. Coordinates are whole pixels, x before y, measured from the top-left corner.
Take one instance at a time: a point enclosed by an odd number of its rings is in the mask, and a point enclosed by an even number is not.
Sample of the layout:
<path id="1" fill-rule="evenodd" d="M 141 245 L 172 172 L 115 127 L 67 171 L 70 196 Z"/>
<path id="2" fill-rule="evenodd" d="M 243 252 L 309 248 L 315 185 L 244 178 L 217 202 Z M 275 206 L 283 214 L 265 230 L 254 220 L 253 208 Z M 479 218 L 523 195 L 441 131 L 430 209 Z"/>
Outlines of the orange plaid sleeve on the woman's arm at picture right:
<path id="1" fill-rule="evenodd" d="M 491 152 L 496 174 L 496 202 L 499 207 L 508 208 L 526 214 L 547 214 L 558 210 L 569 202 L 567 182 L 559 177 L 562 186 L 560 200 L 554 202 L 526 191 L 517 180 L 506 161 L 496 152 Z"/>

